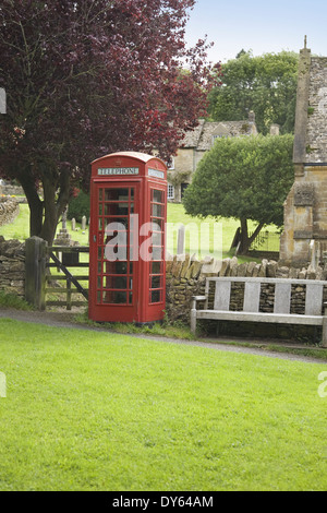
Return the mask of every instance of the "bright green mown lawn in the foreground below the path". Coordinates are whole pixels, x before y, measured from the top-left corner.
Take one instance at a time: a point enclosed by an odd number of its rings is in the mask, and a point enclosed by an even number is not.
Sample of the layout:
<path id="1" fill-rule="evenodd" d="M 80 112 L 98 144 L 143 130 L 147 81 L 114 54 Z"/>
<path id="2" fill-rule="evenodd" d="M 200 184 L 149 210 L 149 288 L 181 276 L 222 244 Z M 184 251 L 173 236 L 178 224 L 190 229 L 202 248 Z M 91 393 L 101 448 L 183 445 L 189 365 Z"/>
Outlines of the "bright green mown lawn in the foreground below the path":
<path id="1" fill-rule="evenodd" d="M 326 490 L 326 365 L 0 325 L 2 491 Z"/>

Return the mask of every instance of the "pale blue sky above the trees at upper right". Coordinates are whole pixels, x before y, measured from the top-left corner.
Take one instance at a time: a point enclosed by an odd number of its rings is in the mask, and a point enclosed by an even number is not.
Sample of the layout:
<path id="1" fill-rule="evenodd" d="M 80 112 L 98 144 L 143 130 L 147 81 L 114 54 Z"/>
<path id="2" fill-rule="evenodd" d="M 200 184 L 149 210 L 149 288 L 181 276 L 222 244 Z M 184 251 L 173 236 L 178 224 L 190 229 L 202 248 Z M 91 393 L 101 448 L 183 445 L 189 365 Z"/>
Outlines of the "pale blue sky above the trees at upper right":
<path id="1" fill-rule="evenodd" d="M 242 50 L 254 56 L 299 52 L 307 36 L 313 55 L 327 57 L 326 0 L 197 0 L 185 40 L 194 46 L 207 35 L 215 46 L 208 60 L 226 62 Z"/>

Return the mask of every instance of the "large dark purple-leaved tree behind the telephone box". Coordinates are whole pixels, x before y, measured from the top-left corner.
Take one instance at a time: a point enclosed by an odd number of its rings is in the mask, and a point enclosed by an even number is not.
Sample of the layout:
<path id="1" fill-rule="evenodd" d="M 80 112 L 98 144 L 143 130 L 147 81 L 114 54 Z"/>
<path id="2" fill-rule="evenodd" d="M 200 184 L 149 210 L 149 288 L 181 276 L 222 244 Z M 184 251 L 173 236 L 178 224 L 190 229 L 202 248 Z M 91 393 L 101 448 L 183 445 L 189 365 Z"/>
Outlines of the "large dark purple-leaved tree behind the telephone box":
<path id="1" fill-rule="evenodd" d="M 210 69 L 206 41 L 184 43 L 194 2 L 2 0 L 0 172 L 22 184 L 32 236 L 52 242 L 93 159 L 154 148 L 168 159 L 196 126 Z"/>

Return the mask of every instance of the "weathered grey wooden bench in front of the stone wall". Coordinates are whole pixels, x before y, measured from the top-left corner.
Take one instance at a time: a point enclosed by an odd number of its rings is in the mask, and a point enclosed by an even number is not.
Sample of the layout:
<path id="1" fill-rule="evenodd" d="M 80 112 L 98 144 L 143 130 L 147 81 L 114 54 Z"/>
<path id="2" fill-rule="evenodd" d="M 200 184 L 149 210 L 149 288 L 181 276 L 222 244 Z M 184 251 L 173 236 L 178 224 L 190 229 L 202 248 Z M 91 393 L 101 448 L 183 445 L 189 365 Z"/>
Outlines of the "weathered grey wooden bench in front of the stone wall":
<path id="1" fill-rule="evenodd" d="M 231 310 L 232 283 L 244 284 L 243 309 Z M 272 284 L 274 311 L 259 311 L 262 286 Z M 209 289 L 214 286 L 213 307 L 209 307 Z M 292 285 L 305 287 L 304 313 L 291 313 Z M 193 296 L 191 308 L 191 331 L 195 333 L 197 319 L 218 321 L 252 321 L 280 324 L 304 324 L 323 326 L 323 347 L 327 347 L 327 309 L 323 305 L 324 286 L 327 282 L 315 279 L 256 278 L 256 277 L 209 277 L 206 278 L 205 296 Z M 197 302 L 204 308 L 197 309 Z M 324 309 L 324 312 L 323 312 Z"/>

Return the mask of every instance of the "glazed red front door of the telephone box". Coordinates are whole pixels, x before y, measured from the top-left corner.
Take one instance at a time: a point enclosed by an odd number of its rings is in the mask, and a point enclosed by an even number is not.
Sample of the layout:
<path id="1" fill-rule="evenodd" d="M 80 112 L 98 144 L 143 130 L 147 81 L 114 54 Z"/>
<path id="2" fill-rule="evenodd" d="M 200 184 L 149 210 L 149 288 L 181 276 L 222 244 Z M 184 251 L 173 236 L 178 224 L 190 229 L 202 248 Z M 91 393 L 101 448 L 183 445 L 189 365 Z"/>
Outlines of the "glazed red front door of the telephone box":
<path id="1" fill-rule="evenodd" d="M 133 260 L 133 222 L 138 215 L 138 189 L 137 182 L 93 187 L 92 207 L 97 216 L 90 240 L 90 311 L 95 320 L 137 320 L 138 261 Z"/>

